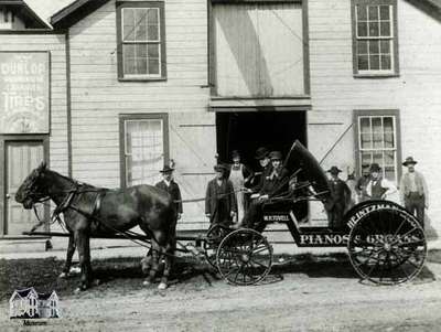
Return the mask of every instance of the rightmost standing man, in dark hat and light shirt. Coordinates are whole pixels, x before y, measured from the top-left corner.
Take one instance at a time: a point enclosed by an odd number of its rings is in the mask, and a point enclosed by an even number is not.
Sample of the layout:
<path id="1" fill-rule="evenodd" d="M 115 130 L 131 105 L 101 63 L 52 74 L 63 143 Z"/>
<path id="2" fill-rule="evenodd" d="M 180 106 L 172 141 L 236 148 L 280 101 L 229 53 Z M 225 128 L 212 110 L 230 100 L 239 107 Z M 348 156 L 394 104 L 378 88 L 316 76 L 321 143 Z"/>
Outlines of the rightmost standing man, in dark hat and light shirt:
<path id="1" fill-rule="evenodd" d="M 427 207 L 428 194 L 426 180 L 420 172 L 415 170 L 417 161 L 412 157 L 406 158 L 402 163 L 407 172 L 400 181 L 400 197 L 407 211 L 416 215 L 421 226 L 424 227 L 424 208 Z"/>

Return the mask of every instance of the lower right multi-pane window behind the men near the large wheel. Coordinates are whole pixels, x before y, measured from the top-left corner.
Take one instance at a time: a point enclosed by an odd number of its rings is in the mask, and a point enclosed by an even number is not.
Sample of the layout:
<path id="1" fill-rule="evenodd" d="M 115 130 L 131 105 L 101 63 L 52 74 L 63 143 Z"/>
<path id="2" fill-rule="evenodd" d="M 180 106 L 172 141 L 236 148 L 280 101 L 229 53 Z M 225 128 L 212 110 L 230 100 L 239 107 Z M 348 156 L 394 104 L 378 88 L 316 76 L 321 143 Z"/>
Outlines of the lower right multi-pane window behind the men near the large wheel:
<path id="1" fill-rule="evenodd" d="M 365 165 L 378 163 L 384 178 L 397 183 L 399 153 L 398 111 L 356 111 L 358 173 Z"/>

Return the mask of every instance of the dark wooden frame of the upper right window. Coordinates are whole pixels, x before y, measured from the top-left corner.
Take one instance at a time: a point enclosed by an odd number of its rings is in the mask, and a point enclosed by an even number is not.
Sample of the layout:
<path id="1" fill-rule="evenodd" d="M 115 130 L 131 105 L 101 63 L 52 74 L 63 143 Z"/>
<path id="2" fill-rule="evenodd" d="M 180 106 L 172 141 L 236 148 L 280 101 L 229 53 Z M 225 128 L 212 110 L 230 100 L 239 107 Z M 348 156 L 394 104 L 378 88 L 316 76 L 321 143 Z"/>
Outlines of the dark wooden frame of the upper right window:
<path id="1" fill-rule="evenodd" d="M 358 28 L 357 28 L 357 6 L 389 6 L 391 7 L 391 11 L 389 12 L 392 15 L 392 21 L 390 24 L 391 32 L 391 52 L 390 52 L 390 71 L 381 71 L 381 69 L 369 69 L 369 71 L 359 71 L 358 69 L 358 49 L 357 41 L 358 39 Z M 398 52 L 398 10 L 397 10 L 397 0 L 351 0 L 351 19 L 352 19 L 352 54 L 353 54 L 353 75 L 354 77 L 397 77 L 399 76 L 399 52 Z M 369 39 L 363 38 L 362 40 L 370 41 L 381 41 L 380 36 Z"/>

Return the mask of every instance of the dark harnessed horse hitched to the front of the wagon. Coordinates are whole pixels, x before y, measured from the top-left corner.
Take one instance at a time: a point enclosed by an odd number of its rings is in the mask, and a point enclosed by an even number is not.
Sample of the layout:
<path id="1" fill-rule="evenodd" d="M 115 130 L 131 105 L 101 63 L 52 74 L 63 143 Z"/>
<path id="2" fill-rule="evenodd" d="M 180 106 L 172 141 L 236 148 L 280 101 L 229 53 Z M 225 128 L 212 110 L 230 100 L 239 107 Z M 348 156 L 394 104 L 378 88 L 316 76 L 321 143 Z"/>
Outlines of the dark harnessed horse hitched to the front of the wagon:
<path id="1" fill-rule="evenodd" d="M 153 283 L 159 261 L 164 260 L 158 288 L 168 287 L 178 221 L 175 203 L 168 193 L 147 184 L 118 190 L 96 188 L 52 171 L 42 162 L 20 185 L 15 201 L 30 210 L 47 200 L 55 203 L 57 214 L 63 213 L 69 232 L 63 274 L 68 274 L 75 247 L 78 249 L 80 290 L 88 289 L 93 280 L 90 237 L 128 234 L 137 225 L 151 239 L 151 268 L 143 283 Z"/>

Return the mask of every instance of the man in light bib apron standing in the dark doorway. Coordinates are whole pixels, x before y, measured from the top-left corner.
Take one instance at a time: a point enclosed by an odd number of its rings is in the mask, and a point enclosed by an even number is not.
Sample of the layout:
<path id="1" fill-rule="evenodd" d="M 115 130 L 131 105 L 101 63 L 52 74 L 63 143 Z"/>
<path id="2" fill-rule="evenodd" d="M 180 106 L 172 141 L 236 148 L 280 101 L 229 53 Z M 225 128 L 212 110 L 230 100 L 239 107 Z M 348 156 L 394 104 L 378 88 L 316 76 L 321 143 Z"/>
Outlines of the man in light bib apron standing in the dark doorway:
<path id="1" fill-rule="evenodd" d="M 229 169 L 228 180 L 233 183 L 233 189 L 236 194 L 237 202 L 237 221 L 241 221 L 245 215 L 246 201 L 245 201 L 245 183 L 250 179 L 252 172 L 243 163 L 240 163 L 239 151 L 232 152 L 233 164 Z M 236 222 L 237 222 L 236 221 Z"/>

